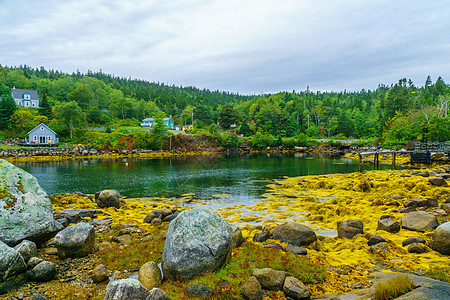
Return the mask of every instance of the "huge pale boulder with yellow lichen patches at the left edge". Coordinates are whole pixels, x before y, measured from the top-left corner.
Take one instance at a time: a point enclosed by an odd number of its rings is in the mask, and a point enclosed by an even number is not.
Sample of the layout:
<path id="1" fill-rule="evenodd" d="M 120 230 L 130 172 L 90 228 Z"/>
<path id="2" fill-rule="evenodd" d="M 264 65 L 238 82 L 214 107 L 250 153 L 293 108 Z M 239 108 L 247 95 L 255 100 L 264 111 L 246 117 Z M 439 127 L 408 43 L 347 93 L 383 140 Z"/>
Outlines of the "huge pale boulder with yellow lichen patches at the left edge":
<path id="1" fill-rule="evenodd" d="M 0 159 L 0 241 L 14 246 L 26 239 L 40 245 L 61 229 L 36 178 Z"/>

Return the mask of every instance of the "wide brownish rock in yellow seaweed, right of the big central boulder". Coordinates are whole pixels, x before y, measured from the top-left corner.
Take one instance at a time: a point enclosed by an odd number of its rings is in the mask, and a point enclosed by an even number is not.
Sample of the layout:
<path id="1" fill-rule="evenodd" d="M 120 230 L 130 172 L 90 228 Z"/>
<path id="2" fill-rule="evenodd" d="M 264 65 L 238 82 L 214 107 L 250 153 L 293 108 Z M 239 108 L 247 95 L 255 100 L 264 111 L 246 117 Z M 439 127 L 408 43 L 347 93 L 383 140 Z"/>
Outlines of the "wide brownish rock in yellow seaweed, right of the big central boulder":
<path id="1" fill-rule="evenodd" d="M 308 246 L 317 240 L 316 233 L 311 228 L 296 222 L 286 222 L 275 227 L 272 237 L 294 246 Z"/>

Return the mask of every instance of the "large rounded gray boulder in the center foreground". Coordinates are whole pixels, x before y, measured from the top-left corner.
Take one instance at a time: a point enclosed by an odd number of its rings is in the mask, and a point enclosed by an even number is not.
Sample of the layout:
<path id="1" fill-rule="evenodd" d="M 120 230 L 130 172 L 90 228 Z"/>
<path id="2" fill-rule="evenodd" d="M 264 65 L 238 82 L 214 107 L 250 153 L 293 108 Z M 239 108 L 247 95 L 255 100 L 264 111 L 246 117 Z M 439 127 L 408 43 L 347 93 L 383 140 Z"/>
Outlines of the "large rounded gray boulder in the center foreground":
<path id="1" fill-rule="evenodd" d="M 180 213 L 169 225 L 162 257 L 164 276 L 186 280 L 221 268 L 231 253 L 231 225 L 204 209 Z"/>

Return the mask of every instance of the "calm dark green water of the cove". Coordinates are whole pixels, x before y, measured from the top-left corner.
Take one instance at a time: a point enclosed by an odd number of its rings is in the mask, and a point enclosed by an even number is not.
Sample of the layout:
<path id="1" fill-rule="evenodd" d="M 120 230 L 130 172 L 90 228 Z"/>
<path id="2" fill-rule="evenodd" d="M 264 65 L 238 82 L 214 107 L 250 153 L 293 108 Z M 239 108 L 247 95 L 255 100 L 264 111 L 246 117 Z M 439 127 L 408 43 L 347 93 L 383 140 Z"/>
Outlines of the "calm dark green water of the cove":
<path id="1" fill-rule="evenodd" d="M 358 170 L 358 163 L 354 160 L 300 153 L 80 159 L 15 164 L 33 174 L 48 194 L 75 191 L 93 194 L 103 189 L 116 189 L 127 197 L 176 197 L 194 193 L 209 198 L 228 194 L 231 197 L 227 201 L 233 202 L 258 198 L 270 180 L 282 176 Z"/>

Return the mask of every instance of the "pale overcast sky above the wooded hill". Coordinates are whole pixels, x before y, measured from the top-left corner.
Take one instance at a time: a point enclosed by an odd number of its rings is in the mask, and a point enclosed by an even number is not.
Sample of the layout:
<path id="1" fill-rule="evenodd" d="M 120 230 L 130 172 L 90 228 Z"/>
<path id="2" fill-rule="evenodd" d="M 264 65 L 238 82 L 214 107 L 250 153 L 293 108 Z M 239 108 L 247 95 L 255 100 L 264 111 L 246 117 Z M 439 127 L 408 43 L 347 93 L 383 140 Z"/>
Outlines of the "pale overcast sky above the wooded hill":
<path id="1" fill-rule="evenodd" d="M 0 0 L 0 64 L 241 94 L 450 82 L 446 0 Z"/>

